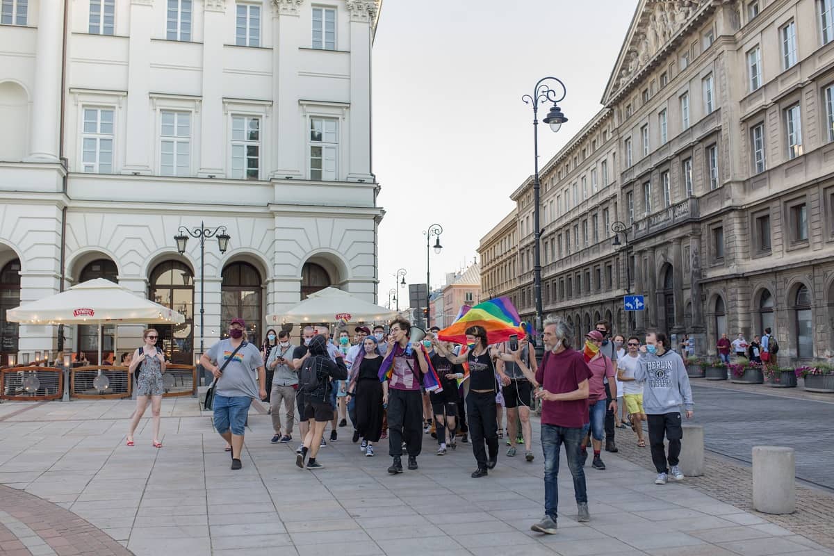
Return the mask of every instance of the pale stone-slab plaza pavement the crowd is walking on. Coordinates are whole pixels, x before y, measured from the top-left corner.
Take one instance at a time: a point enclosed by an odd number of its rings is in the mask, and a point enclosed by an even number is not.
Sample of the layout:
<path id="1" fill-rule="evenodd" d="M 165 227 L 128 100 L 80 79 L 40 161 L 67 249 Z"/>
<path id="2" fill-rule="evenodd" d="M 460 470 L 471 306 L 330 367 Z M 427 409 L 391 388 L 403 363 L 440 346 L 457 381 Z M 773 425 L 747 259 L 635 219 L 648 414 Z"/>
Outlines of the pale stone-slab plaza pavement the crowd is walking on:
<path id="1" fill-rule="evenodd" d="M 732 463 L 710 456 L 705 478 L 656 486 L 631 431 L 618 430 L 624 449 L 604 453 L 606 471 L 585 468 L 590 523 L 575 521 L 563 455 L 560 530 L 542 536 L 530 531 L 543 513 L 537 441 L 533 463 L 502 449 L 490 476 L 473 479 L 469 444 L 438 457 L 426 435 L 420 469 L 392 477 L 384 447 L 365 458 L 340 428 L 319 453 L 326 468 L 309 472 L 294 465 L 295 443 L 269 443 L 269 416 L 253 410 L 244 468 L 232 472 L 196 400 L 164 400 L 161 449 L 147 419 L 124 445 L 132 412 L 130 401 L 0 404 L 0 554 L 834 554 L 825 531 L 797 534 L 744 497 L 728 503 L 721 475 L 746 480 Z M 797 501 L 831 499 L 801 489 Z"/>

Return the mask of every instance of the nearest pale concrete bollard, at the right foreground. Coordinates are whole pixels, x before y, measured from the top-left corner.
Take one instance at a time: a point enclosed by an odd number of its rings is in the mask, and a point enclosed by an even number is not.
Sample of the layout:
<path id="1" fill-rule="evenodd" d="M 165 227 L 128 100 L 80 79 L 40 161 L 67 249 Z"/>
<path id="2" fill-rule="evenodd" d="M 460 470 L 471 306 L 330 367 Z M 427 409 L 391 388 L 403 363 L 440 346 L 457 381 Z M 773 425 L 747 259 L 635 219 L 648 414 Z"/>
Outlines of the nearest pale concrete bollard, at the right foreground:
<path id="1" fill-rule="evenodd" d="M 796 510 L 796 455 L 783 446 L 753 447 L 753 509 L 764 513 Z"/>

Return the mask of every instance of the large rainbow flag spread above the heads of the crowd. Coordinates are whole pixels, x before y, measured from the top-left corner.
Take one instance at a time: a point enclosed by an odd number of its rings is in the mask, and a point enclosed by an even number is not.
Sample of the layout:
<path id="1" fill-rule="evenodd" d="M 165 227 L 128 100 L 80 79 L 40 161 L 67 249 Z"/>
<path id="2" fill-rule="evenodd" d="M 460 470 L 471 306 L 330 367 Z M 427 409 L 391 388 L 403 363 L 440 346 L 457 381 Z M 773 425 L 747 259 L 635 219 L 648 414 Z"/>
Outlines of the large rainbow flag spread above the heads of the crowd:
<path id="1" fill-rule="evenodd" d="M 461 308 L 461 313 L 455 323 L 437 333 L 438 338 L 465 345 L 466 328 L 476 325 L 486 329 L 486 338 L 490 344 L 506 342 L 510 336 L 524 337 L 527 332 L 510 298 L 490 299 L 465 312 Z"/>

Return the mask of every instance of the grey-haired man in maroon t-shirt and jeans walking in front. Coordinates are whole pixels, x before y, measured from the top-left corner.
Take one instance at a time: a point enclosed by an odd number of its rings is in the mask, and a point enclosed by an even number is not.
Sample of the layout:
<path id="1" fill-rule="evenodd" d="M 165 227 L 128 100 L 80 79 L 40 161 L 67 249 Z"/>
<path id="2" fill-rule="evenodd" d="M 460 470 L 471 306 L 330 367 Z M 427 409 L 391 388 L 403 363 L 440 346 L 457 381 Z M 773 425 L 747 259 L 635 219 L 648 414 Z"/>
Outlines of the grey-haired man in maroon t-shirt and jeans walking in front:
<path id="1" fill-rule="evenodd" d="M 539 533 L 556 532 L 556 507 L 559 505 L 559 450 L 565 456 L 574 479 L 574 495 L 579 521 L 589 521 L 585 472 L 580 459 L 582 430 L 588 423 L 588 379 L 592 376 L 582 353 L 570 348 L 573 330 L 561 319 L 545 321 L 545 357 L 535 373 L 541 388 L 541 448 L 545 453 L 545 517 L 530 526 Z"/>

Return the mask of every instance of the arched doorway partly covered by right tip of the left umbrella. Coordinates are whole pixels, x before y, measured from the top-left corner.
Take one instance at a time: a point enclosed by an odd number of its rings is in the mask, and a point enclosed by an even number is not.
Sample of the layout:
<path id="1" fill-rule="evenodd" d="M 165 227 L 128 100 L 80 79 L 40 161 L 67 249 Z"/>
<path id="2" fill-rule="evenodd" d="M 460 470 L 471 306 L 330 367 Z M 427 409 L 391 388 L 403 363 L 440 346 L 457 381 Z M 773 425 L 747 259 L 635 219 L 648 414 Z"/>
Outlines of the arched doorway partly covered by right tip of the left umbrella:
<path id="1" fill-rule="evenodd" d="M 164 261 L 151 273 L 150 298 L 185 317 L 182 324 L 158 324 L 158 345 L 172 363 L 190 365 L 194 353 L 194 277 L 179 261 Z"/>

